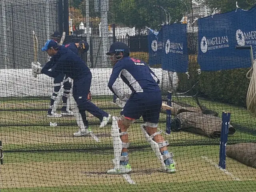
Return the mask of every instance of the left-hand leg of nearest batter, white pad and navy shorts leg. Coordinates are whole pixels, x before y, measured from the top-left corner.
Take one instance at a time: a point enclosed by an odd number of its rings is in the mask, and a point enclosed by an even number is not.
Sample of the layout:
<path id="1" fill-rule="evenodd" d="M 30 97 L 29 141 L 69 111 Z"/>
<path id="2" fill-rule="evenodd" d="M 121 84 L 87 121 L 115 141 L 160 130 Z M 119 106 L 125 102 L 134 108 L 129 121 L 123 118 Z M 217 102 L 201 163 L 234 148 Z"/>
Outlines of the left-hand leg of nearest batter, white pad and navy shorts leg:
<path id="1" fill-rule="evenodd" d="M 126 130 L 141 116 L 140 104 L 134 102 L 133 98 L 125 104 L 120 117 L 112 117 L 112 134 L 114 156 L 114 168 L 108 170 L 108 174 L 124 174 L 132 171 L 128 163 L 128 134 Z"/>

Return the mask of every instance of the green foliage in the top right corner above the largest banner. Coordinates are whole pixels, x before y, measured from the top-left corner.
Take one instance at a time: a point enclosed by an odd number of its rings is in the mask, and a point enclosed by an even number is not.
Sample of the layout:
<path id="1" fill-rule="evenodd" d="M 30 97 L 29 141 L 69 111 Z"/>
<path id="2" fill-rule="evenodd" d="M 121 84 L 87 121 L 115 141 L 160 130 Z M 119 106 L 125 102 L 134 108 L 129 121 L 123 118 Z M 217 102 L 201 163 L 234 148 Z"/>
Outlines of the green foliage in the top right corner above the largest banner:
<path id="1" fill-rule="evenodd" d="M 206 0 L 205 2 L 210 8 L 218 8 L 222 13 L 236 9 L 236 2 L 241 9 L 245 10 L 255 4 L 255 0 Z"/>

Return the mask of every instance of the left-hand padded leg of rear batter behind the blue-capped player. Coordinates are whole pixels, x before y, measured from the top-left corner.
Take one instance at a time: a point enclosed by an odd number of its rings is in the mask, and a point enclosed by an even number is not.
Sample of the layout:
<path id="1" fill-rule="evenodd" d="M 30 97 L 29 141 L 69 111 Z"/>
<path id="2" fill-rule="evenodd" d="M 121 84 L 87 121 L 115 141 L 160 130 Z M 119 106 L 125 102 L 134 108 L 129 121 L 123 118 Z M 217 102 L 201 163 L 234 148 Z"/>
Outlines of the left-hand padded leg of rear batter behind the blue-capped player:
<path id="1" fill-rule="evenodd" d="M 61 117 L 61 114 L 57 114 L 53 109 L 57 108 L 56 104 L 58 103 L 58 93 L 61 88 L 61 82 L 63 78 L 57 77 L 54 78 L 54 92 L 52 93 L 50 99 L 50 108 L 48 109 L 47 117 Z M 54 106 L 55 104 L 55 106 Z"/>

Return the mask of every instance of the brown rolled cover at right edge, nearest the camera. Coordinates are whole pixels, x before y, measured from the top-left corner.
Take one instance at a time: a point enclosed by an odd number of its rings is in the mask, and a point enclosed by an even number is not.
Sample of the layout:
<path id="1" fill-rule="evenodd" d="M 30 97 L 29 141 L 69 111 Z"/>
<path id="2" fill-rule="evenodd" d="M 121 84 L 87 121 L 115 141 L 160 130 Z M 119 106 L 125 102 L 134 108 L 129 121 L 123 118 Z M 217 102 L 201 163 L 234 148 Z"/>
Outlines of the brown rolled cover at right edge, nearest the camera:
<path id="1" fill-rule="evenodd" d="M 256 168 L 256 143 L 238 143 L 226 146 L 226 155 Z"/>

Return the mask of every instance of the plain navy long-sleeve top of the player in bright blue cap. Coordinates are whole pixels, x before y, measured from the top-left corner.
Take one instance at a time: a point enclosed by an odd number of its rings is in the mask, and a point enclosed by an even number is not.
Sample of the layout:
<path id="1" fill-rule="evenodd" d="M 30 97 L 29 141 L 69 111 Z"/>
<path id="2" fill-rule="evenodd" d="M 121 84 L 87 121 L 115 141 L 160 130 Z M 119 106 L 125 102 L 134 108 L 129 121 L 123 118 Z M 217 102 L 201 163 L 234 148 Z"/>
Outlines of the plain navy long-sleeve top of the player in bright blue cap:
<path id="1" fill-rule="evenodd" d="M 58 47 L 57 54 L 52 56 L 45 66 L 42 68 L 42 73 L 52 78 L 64 74 L 75 81 L 89 74 L 91 75 L 85 62 L 70 49 L 63 46 Z M 48 70 L 47 66 L 52 66 L 51 70 Z"/>

